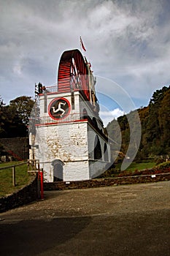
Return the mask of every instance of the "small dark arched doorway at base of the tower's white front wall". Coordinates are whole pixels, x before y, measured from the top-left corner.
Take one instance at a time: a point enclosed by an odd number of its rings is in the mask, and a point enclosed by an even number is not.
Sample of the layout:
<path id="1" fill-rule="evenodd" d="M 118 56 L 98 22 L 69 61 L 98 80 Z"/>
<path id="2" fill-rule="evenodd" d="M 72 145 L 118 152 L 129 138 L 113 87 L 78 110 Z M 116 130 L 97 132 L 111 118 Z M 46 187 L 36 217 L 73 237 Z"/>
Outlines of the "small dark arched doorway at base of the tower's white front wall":
<path id="1" fill-rule="evenodd" d="M 53 165 L 53 181 L 63 181 L 63 162 L 56 159 L 52 162 Z"/>

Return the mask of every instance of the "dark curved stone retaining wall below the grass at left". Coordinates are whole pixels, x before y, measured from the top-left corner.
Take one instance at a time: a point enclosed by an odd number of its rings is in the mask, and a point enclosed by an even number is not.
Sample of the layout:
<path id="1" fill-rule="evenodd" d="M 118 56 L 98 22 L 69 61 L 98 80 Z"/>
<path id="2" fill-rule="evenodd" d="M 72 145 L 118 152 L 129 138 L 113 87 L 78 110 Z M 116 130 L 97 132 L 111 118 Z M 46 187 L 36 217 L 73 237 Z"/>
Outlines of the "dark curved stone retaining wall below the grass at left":
<path id="1" fill-rule="evenodd" d="M 7 211 L 18 206 L 23 206 L 24 204 L 30 203 L 31 201 L 39 198 L 37 182 L 37 176 L 33 176 L 28 186 L 23 187 L 23 189 L 20 189 L 18 192 L 13 193 L 12 195 L 1 197 L 0 212 Z"/>

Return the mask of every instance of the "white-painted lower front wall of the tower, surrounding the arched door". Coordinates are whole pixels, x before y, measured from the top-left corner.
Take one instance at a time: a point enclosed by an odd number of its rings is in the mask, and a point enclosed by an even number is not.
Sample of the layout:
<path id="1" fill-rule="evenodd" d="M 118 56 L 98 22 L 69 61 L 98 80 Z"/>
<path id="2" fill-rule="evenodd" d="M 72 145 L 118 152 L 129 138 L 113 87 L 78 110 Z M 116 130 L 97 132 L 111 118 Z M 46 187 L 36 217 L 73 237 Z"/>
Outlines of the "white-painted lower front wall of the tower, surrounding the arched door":
<path id="1" fill-rule="evenodd" d="M 88 178 L 88 134 L 87 121 L 74 122 L 57 125 L 42 125 L 36 127 L 35 158 L 39 159 L 40 166 L 47 174 L 47 181 L 53 179 L 53 166 L 55 159 L 64 162 L 63 179 L 74 180 Z M 82 165 L 86 167 L 80 168 Z M 79 168 L 77 168 L 79 167 Z M 82 176 L 80 177 L 80 173 Z M 70 173 L 70 176 L 69 176 Z"/>

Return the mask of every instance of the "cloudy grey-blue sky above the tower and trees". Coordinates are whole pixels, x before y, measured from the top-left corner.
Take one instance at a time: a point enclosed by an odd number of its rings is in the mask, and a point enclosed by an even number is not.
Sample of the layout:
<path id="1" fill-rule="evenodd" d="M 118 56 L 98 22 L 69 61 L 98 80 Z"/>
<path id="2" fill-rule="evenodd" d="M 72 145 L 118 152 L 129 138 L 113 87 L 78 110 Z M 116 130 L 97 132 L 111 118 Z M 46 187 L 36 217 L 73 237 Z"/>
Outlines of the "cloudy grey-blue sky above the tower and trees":
<path id="1" fill-rule="evenodd" d="M 0 0 L 0 9 L 6 104 L 34 97 L 39 81 L 55 83 L 61 54 L 80 49 L 80 36 L 94 74 L 105 80 L 96 86 L 103 113 L 127 112 L 123 100 L 146 106 L 153 91 L 170 83 L 169 0 Z M 115 87 L 126 96 L 117 98 Z"/>

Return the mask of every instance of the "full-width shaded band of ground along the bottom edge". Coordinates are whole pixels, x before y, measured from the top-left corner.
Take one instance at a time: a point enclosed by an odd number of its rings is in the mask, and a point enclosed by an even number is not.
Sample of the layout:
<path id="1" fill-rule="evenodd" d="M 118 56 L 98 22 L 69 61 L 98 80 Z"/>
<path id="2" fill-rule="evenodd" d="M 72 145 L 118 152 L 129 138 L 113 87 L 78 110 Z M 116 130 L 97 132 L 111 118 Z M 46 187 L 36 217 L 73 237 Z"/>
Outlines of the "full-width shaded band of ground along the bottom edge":
<path id="1" fill-rule="evenodd" d="M 170 210 L 0 222 L 0 255 L 168 256 Z"/>

